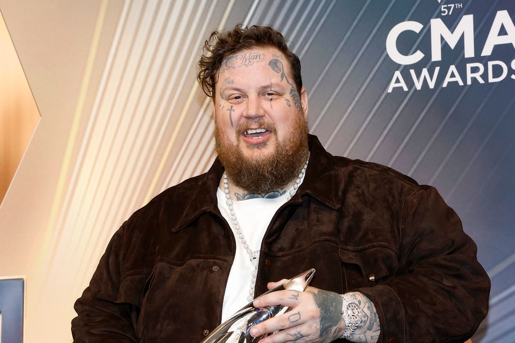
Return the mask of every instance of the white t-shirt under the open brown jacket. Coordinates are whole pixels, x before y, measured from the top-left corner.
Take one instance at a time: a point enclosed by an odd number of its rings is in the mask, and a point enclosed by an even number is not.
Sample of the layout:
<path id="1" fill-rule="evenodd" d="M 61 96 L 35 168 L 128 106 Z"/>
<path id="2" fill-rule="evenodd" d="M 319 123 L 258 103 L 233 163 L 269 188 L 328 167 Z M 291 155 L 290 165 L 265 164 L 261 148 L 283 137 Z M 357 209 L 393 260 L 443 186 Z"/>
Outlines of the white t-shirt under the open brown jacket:
<path id="1" fill-rule="evenodd" d="M 229 280 L 224 295 L 224 304 L 222 305 L 222 322 L 230 318 L 236 311 L 248 304 L 247 297 L 250 289 L 251 272 L 254 267 L 250 263 L 249 255 L 243 248 L 241 239 L 232 224 L 229 208 L 226 204 L 224 192 L 218 190 L 216 192 L 218 200 L 218 209 L 220 213 L 229 223 L 231 230 L 236 239 L 236 255 L 229 272 Z M 266 229 L 272 220 L 273 215 L 287 201 L 288 192 L 284 195 L 273 199 L 247 199 L 242 201 L 234 201 L 233 207 L 239 226 L 243 231 L 243 235 L 252 251 L 261 248 L 261 242 L 265 235 Z M 259 253 L 258 253 L 259 255 Z M 255 297 L 259 294 L 254 295 Z"/>

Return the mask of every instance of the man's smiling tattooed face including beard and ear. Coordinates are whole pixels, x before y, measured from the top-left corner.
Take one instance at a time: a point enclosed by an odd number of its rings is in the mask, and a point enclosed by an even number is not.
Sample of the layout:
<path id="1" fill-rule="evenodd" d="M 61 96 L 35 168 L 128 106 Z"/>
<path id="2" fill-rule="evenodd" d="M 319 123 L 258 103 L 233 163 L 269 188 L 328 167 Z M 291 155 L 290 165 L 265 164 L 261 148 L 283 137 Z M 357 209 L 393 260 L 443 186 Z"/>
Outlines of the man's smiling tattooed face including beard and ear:
<path id="1" fill-rule="evenodd" d="M 222 62 L 215 86 L 216 151 L 229 181 L 249 193 L 282 191 L 308 155 L 307 94 L 274 47 Z"/>

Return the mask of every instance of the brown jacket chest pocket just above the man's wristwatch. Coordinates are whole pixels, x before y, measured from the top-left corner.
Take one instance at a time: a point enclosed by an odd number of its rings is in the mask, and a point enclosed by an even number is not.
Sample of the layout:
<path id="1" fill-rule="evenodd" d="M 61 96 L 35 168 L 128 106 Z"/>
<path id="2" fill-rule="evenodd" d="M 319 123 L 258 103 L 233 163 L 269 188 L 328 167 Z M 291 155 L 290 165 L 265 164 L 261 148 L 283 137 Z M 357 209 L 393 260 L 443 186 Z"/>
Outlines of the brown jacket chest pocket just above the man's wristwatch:
<path id="1" fill-rule="evenodd" d="M 346 291 L 381 283 L 395 275 L 399 266 L 397 253 L 383 246 L 364 250 L 340 248 L 339 254 Z"/>

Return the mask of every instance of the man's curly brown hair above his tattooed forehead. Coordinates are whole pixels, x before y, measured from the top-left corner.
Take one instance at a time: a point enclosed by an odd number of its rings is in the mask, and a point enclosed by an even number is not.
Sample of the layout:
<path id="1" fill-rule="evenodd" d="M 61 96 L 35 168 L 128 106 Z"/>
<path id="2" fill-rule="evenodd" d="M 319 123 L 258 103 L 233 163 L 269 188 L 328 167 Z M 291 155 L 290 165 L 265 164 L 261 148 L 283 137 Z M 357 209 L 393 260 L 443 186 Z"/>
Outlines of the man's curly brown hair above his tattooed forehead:
<path id="1" fill-rule="evenodd" d="M 252 47 L 271 46 L 277 48 L 289 62 L 290 73 L 300 94 L 302 76 L 300 59 L 288 48 L 283 35 L 270 26 L 243 27 L 237 24 L 231 31 L 213 31 L 204 43 L 203 54 L 198 62 L 197 81 L 204 93 L 215 100 L 215 84 L 218 71 L 224 59 L 242 50 Z"/>

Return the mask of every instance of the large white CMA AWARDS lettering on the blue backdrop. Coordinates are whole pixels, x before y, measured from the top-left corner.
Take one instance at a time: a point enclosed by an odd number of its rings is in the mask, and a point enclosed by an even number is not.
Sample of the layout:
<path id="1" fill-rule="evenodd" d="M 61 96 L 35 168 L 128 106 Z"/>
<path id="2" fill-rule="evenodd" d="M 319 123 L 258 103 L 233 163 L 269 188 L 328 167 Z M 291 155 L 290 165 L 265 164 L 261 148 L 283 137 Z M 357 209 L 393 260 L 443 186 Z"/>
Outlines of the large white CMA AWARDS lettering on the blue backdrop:
<path id="1" fill-rule="evenodd" d="M 472 14 L 462 16 L 460 22 L 453 32 L 449 30 L 441 19 L 431 20 L 431 61 L 441 61 L 441 39 L 454 49 L 461 37 L 464 40 L 464 57 L 474 58 L 474 16 Z M 394 26 L 388 33 L 386 38 L 386 52 L 388 56 L 396 63 L 402 65 L 414 64 L 422 60 L 425 56 L 420 50 L 413 54 L 403 55 L 397 48 L 399 37 L 404 31 L 415 31 L 419 33 L 423 25 L 415 21 L 406 21 Z M 502 34 L 501 32 L 506 32 Z M 481 56 L 490 56 L 496 45 L 511 44 L 515 49 L 515 25 L 510 18 L 508 11 L 498 11 L 492 22 L 490 32 L 483 46 Z M 422 70 L 409 70 L 409 75 L 403 76 L 400 71 L 396 71 L 390 81 L 388 93 L 396 88 L 403 91 L 408 90 L 408 84 L 413 82 L 417 90 L 423 87 L 433 89 L 437 81 L 441 81 L 441 87 L 447 87 L 451 82 L 459 85 L 471 84 L 472 82 L 491 83 L 499 82 L 508 77 L 508 70 L 515 71 L 515 59 L 511 62 L 490 60 L 486 63 L 471 62 L 465 65 L 465 68 L 456 68 L 456 65 L 435 66 Z M 515 80 L 515 75 L 509 76 Z"/>

